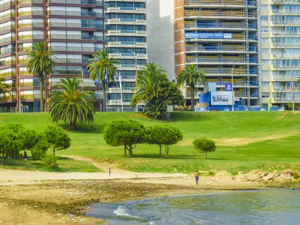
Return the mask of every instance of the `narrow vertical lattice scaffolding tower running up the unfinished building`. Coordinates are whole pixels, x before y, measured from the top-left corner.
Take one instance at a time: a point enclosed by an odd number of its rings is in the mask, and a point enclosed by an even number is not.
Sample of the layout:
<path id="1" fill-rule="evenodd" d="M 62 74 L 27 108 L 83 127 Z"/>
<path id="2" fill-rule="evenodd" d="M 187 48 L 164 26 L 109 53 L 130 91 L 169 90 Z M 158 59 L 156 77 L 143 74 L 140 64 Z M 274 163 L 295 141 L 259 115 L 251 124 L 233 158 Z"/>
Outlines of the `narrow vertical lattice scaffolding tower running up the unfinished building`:
<path id="1" fill-rule="evenodd" d="M 249 65 L 249 22 L 248 1 L 244 0 L 245 6 L 245 45 L 246 45 L 246 75 L 247 75 L 247 107 L 250 107 L 250 65 Z"/>

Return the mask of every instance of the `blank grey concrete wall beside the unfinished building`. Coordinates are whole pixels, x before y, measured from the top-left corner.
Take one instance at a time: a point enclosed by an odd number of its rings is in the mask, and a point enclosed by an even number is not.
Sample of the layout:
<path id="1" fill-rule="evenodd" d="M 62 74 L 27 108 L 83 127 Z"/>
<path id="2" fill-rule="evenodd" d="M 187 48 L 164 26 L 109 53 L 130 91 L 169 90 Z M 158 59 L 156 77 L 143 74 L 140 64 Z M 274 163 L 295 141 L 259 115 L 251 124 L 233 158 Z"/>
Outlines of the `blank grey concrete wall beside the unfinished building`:
<path id="1" fill-rule="evenodd" d="M 173 0 L 147 0 L 147 44 L 148 62 L 160 64 L 175 79 Z"/>

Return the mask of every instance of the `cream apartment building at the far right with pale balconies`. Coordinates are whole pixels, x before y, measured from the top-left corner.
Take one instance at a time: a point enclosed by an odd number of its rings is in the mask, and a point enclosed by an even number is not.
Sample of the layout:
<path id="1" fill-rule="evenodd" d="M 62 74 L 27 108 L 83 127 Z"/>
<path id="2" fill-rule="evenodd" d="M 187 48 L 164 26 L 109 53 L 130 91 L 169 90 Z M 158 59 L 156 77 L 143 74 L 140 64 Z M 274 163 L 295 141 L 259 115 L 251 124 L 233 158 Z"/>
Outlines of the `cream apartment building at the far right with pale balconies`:
<path id="1" fill-rule="evenodd" d="M 300 103 L 300 2 L 260 0 L 261 100 L 288 109 Z M 292 82 L 293 80 L 293 82 Z M 293 91 L 292 91 L 293 88 Z M 292 97 L 292 95 L 294 96 Z"/>

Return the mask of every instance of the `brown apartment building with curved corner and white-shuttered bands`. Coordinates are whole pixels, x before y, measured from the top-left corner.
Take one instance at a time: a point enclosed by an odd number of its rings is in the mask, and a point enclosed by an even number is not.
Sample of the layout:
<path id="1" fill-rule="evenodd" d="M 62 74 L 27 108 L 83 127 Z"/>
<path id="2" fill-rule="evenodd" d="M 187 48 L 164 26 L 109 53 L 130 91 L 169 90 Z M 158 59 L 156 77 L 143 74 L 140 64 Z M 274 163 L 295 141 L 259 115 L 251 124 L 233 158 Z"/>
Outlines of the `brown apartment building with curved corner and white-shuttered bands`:
<path id="1" fill-rule="evenodd" d="M 45 80 L 46 99 L 60 78 L 80 76 L 93 86 L 85 67 L 96 50 L 104 48 L 104 2 L 102 0 L 0 0 L 0 77 L 9 94 L 0 94 L 1 111 L 39 111 L 39 82 L 25 64 L 33 42 L 46 41 L 56 52 L 57 66 Z M 12 52 L 14 51 L 14 52 Z M 19 63 L 18 63 L 19 62 Z M 101 92 L 94 89 L 96 110 Z M 45 100 L 46 104 L 46 100 Z"/>

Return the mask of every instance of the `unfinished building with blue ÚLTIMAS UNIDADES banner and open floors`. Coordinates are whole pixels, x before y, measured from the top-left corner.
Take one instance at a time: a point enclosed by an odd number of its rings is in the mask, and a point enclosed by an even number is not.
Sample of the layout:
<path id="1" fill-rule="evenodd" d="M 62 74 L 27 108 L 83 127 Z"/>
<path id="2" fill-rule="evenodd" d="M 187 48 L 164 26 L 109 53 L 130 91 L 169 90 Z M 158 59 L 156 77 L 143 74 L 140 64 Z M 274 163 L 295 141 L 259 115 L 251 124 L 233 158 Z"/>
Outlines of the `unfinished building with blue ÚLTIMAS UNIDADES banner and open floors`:
<path id="1" fill-rule="evenodd" d="M 185 65 L 197 64 L 208 74 L 208 82 L 216 82 L 217 90 L 223 89 L 226 81 L 231 82 L 233 74 L 235 97 L 244 105 L 259 105 L 256 0 L 174 0 L 170 4 L 148 0 L 148 8 L 149 33 L 156 31 L 152 24 L 163 21 L 174 33 L 172 48 L 170 43 L 160 49 L 156 41 L 149 42 L 150 60 L 159 63 L 164 49 L 170 54 L 173 51 L 174 58 L 161 60 L 174 69 L 163 65 L 164 69 L 177 76 Z M 197 90 L 203 91 L 203 85 Z M 188 84 L 182 92 L 185 104 L 190 105 Z"/>

